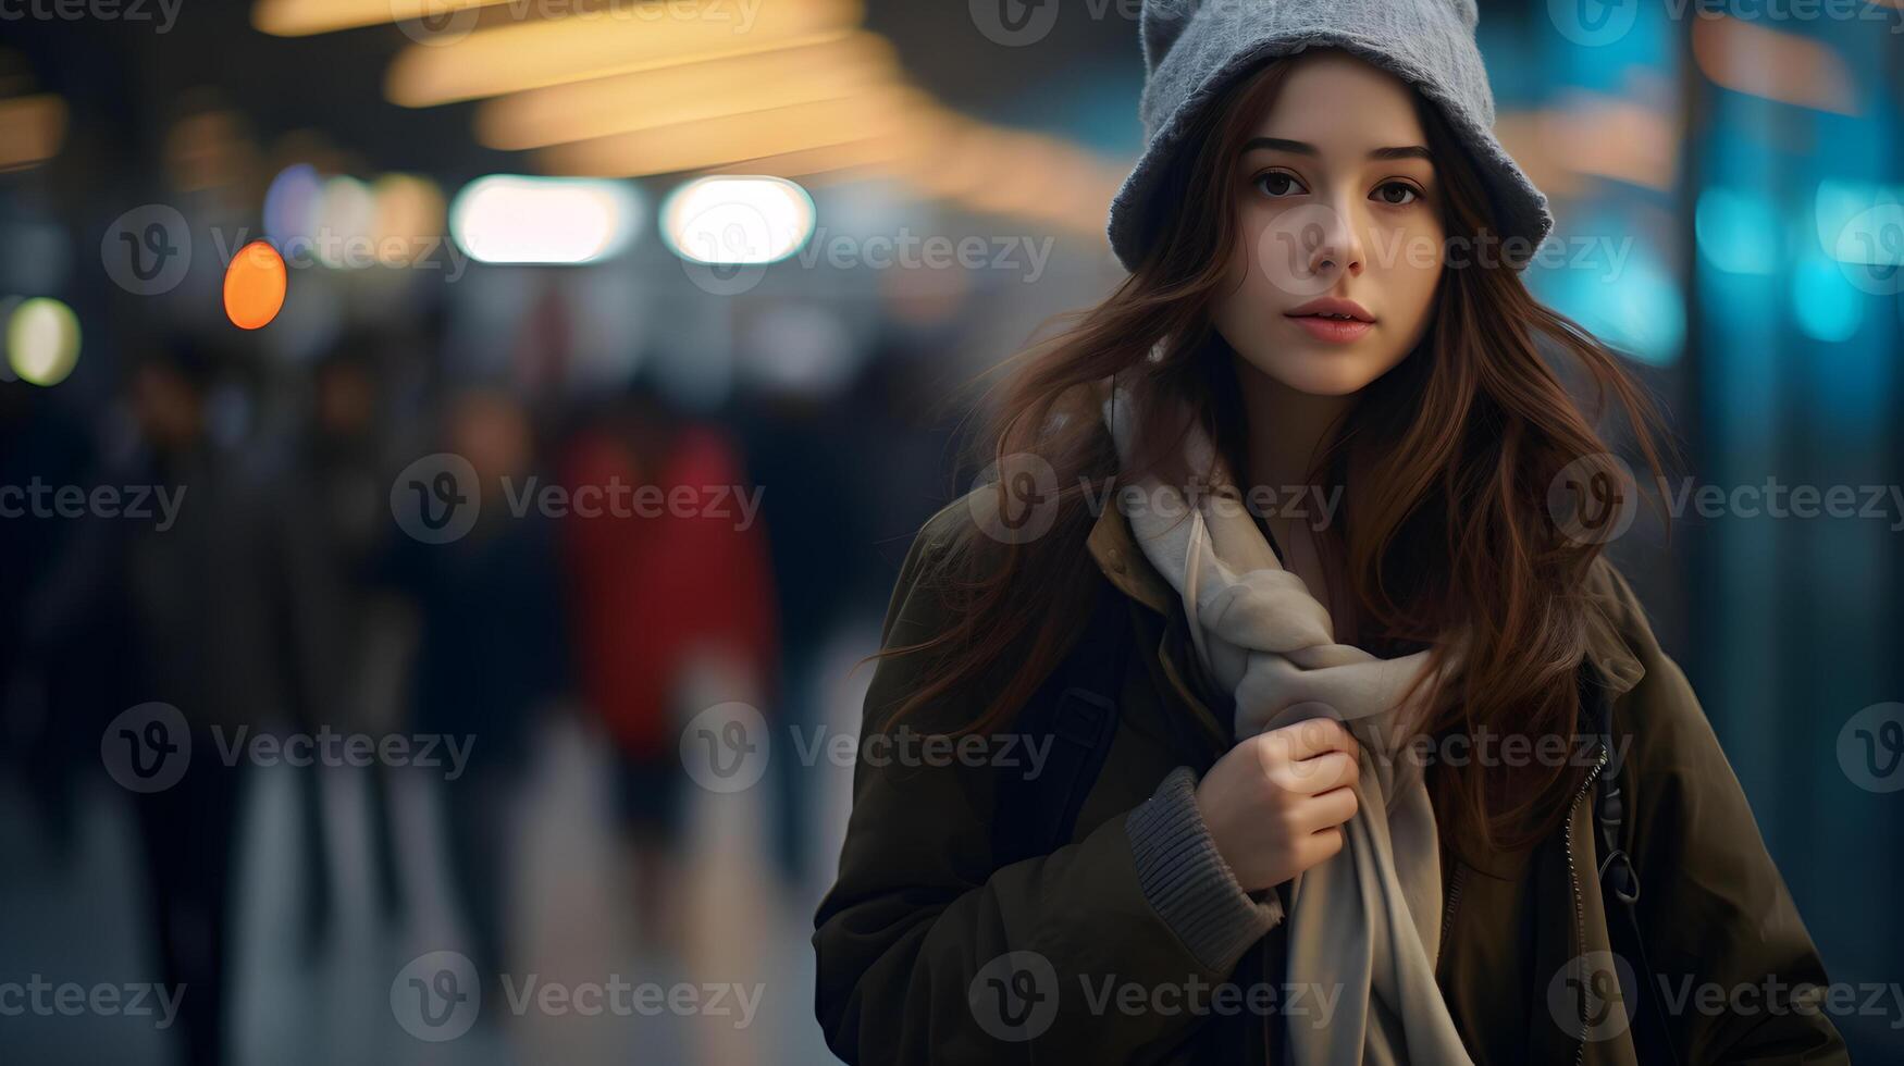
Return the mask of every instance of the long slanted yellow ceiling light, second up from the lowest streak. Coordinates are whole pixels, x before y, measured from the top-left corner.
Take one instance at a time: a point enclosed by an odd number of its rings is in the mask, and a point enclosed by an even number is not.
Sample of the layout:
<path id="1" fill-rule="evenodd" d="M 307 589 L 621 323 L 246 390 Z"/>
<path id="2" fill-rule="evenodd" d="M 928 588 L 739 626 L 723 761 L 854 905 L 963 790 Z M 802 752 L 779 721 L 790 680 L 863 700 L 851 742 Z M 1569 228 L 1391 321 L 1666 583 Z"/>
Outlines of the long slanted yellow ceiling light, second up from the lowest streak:
<path id="1" fill-rule="evenodd" d="M 503 150 L 541 148 L 764 107 L 843 99 L 897 80 L 893 46 L 855 32 L 824 44 L 514 93 L 476 112 L 476 139 Z"/>

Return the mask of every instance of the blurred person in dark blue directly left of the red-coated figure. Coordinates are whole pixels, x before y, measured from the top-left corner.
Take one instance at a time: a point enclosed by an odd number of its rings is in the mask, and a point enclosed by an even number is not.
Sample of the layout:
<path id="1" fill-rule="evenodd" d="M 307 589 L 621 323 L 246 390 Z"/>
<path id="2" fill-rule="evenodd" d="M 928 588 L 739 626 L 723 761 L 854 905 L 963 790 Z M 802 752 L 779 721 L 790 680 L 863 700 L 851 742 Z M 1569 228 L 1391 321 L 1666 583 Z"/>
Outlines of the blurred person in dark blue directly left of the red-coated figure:
<path id="1" fill-rule="evenodd" d="M 446 514 L 474 508 L 474 522 L 444 543 L 398 539 L 387 565 L 417 611 L 411 729 L 468 748 L 461 773 L 444 775 L 449 874 L 486 1001 L 503 1003 L 514 813 L 537 716 L 567 691 L 571 662 L 554 522 L 522 495 L 537 468 L 522 404 L 466 388 L 442 424 L 447 453 L 474 472 L 474 484 L 451 476 L 455 510 Z"/>

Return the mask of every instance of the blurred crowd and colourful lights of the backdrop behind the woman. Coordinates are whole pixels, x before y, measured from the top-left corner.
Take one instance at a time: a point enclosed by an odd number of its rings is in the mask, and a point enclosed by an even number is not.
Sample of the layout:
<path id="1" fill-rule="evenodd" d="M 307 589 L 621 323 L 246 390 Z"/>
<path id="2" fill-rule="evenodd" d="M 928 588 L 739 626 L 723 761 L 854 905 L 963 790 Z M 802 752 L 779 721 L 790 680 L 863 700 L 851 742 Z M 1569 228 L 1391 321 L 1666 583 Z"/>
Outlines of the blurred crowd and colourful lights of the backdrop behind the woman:
<path id="1" fill-rule="evenodd" d="M 967 383 L 1121 276 L 1135 11 L 0 4 L 0 1060 L 830 1060 L 828 740 Z M 1613 554 L 1891 988 L 1900 30 L 1481 4 L 1529 284 L 1693 478 Z"/>

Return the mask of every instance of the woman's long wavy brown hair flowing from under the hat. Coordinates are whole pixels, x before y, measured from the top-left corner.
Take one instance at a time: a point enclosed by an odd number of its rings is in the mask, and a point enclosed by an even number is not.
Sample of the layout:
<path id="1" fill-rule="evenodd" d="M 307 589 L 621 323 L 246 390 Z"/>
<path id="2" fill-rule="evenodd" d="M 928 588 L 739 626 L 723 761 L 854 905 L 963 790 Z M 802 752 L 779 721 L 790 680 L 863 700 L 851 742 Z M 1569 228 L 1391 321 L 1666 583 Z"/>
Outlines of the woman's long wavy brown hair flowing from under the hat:
<path id="1" fill-rule="evenodd" d="M 1156 194 L 1167 207 L 1137 270 L 1101 305 L 1066 316 L 1068 329 L 1005 364 L 981 459 L 1000 470 L 1021 455 L 1049 464 L 1057 493 L 1041 504 L 1053 508 L 1051 527 L 1005 544 L 967 529 L 939 556 L 923 581 L 956 622 L 880 653 L 931 659 L 925 683 L 895 718 L 984 685 L 990 701 L 965 729 L 998 729 L 1064 655 L 1099 581 L 1083 548 L 1095 518 L 1087 503 L 1110 499 L 1102 485 L 1167 468 L 1182 436 L 1161 423 L 1165 404 L 1140 404 L 1144 445 L 1120 466 L 1097 415 L 1097 383 L 1129 369 L 1135 394 L 1186 400 L 1230 468 L 1240 468 L 1245 415 L 1211 306 L 1226 282 L 1228 249 L 1241 240 L 1232 204 L 1243 179 L 1234 162 L 1287 70 L 1287 61 L 1270 61 L 1201 110 Z M 1445 232 L 1491 247 L 1487 192 L 1472 160 L 1418 93 L 1417 114 L 1445 190 Z M 1160 356 L 1146 360 L 1160 343 Z M 1582 588 L 1599 544 L 1556 525 L 1546 489 L 1569 464 L 1613 449 L 1561 371 L 1590 381 L 1596 405 L 1615 402 L 1656 472 L 1658 417 L 1609 348 L 1537 303 L 1512 268 L 1479 257 L 1447 265 L 1420 346 L 1361 392 L 1314 470 L 1318 484 L 1344 487 L 1333 548 L 1367 622 L 1359 632 L 1378 634 L 1365 645 L 1428 647 L 1445 662 L 1449 634 L 1466 638 L 1458 668 L 1434 672 L 1426 733 L 1571 737 L 1577 729 L 1575 670 L 1588 632 Z M 1022 506 L 1005 497 L 1007 482 L 994 489 L 998 506 Z M 1514 847 L 1552 832 L 1582 775 L 1550 765 L 1531 775 L 1432 773 L 1430 782 L 1451 841 Z"/>

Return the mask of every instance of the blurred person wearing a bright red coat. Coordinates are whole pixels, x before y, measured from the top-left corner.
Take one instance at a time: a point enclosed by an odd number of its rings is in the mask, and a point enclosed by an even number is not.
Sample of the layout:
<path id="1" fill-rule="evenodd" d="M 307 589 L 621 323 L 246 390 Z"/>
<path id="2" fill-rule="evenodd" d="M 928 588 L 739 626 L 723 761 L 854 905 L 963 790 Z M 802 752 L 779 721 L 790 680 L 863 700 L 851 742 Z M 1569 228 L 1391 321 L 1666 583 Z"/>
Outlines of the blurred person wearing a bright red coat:
<path id="1" fill-rule="evenodd" d="M 682 720 L 701 670 L 762 701 L 775 666 L 773 575 L 733 444 L 634 392 L 567 444 L 564 556 L 579 687 L 617 742 L 615 800 L 638 931 L 678 946 Z M 758 499 L 758 497 L 756 497 Z M 735 697 L 741 699 L 741 697 Z"/>

